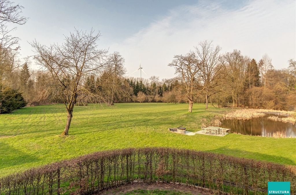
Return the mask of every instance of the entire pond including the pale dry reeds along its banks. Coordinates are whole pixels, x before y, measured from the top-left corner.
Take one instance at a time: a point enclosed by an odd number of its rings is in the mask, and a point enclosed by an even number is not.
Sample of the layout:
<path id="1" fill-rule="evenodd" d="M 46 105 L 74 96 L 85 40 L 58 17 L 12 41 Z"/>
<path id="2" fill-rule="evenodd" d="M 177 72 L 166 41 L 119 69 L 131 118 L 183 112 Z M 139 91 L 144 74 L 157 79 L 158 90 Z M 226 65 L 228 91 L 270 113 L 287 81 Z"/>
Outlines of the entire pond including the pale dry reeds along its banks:
<path id="1" fill-rule="evenodd" d="M 226 113 L 221 127 L 243 135 L 296 137 L 296 118 L 293 114 L 293 111 L 239 109 Z"/>

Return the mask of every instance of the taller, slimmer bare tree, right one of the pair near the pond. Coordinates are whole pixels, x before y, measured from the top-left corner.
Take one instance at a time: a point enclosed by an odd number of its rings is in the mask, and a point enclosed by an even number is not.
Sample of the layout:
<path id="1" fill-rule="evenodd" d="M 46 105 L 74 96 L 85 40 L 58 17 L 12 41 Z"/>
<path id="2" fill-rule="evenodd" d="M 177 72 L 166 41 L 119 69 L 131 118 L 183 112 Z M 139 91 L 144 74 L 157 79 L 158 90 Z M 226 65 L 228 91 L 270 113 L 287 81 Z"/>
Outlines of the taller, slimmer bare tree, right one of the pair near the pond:
<path id="1" fill-rule="evenodd" d="M 200 48 L 199 48 L 200 47 Z M 197 55 L 202 63 L 199 72 L 201 85 L 205 86 L 204 93 L 206 99 L 205 108 L 208 108 L 209 97 L 217 92 L 220 92 L 219 85 L 222 85 L 221 78 L 223 63 L 220 62 L 219 45 L 213 46 L 213 41 L 202 41 L 199 47 L 195 47 Z"/>

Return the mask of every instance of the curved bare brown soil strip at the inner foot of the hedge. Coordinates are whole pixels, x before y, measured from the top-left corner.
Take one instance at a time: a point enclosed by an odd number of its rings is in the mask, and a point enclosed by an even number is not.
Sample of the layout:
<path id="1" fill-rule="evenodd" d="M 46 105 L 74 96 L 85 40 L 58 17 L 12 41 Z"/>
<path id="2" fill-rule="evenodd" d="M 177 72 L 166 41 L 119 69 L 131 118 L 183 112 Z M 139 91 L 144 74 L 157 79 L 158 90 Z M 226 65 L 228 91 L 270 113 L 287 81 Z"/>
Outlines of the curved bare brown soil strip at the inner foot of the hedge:
<path id="1" fill-rule="evenodd" d="M 133 190 L 175 190 L 182 193 L 189 193 L 189 194 L 201 194 L 201 195 L 207 195 L 207 194 L 213 194 L 209 191 L 203 191 L 202 189 L 197 189 L 194 187 L 189 186 L 182 186 L 177 184 L 170 184 L 170 183 L 153 183 L 153 184 L 146 184 L 146 183 L 140 183 L 140 184 L 129 184 L 124 186 L 119 186 L 117 188 L 112 188 L 109 190 L 101 191 L 99 194 L 126 194 L 127 192 L 133 191 Z"/>

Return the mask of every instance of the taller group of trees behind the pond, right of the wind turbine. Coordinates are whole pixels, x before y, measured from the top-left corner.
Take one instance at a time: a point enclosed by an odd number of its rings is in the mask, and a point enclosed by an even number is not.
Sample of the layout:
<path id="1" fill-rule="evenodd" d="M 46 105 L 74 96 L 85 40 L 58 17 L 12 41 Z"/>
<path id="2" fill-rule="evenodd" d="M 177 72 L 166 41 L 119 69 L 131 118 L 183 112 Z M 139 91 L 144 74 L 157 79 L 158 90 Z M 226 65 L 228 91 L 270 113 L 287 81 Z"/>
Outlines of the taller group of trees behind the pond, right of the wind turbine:
<path id="1" fill-rule="evenodd" d="M 202 41 L 194 51 L 176 55 L 169 66 L 176 70 L 178 88 L 186 95 L 189 112 L 193 103 L 204 97 L 219 107 L 294 109 L 296 102 L 295 60 L 287 69 L 274 69 L 264 54 L 258 61 L 241 51 L 221 53 L 219 45 Z"/>

